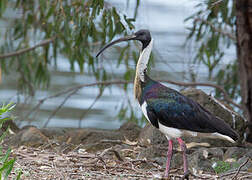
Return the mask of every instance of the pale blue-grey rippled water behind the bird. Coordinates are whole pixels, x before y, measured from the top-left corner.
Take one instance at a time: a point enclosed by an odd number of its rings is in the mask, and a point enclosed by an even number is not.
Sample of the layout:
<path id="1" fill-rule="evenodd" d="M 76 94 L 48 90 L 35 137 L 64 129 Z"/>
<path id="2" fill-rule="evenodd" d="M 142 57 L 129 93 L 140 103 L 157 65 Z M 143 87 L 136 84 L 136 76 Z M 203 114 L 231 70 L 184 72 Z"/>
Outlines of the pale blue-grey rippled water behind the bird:
<path id="1" fill-rule="evenodd" d="M 124 14 L 132 17 L 134 14 L 135 1 L 129 1 L 127 7 L 126 1 L 110 1 Z M 190 81 L 188 76 L 191 68 L 192 50 L 184 48 L 186 39 L 186 24 L 184 19 L 193 13 L 193 7 L 197 1 L 191 0 L 146 0 L 141 1 L 136 20 L 136 29 L 149 29 L 154 37 L 154 51 L 158 61 L 152 68 L 150 75 L 154 79 Z M 188 25 L 188 24 L 187 24 Z M 107 52 L 109 53 L 109 51 Z M 234 56 L 234 50 L 231 50 L 230 56 Z M 55 94 L 62 90 L 84 84 L 93 83 L 95 79 L 88 74 L 70 72 L 70 65 L 64 58 L 60 60 L 57 71 L 52 72 L 51 87 L 49 91 L 38 91 L 34 102 L 41 98 Z M 221 68 L 221 67 L 220 67 Z M 76 69 L 78 66 L 76 65 Z M 207 81 L 207 69 L 205 67 L 193 67 L 200 74 L 200 81 Z M 118 79 L 125 69 L 114 68 L 114 73 Z M 0 89 L 1 101 L 17 101 L 16 79 L 13 76 L 3 77 Z M 168 86 L 179 90 L 179 87 L 167 84 Z M 204 91 L 211 92 L 213 89 L 204 87 Z M 133 102 L 135 111 L 140 112 L 140 108 L 133 98 L 133 89 L 130 85 L 130 94 L 125 94 L 122 87 L 111 86 L 106 89 L 101 98 L 95 103 L 93 108 L 87 112 L 89 106 L 94 102 L 99 91 L 96 87 L 86 87 L 73 95 L 57 114 L 49 121 L 49 127 L 94 127 L 103 129 L 119 128 L 124 121 L 120 121 L 116 116 L 119 107 L 128 100 Z M 17 122 L 22 127 L 32 122 L 33 125 L 43 126 L 48 117 L 57 106 L 62 103 L 66 96 L 59 96 L 47 100 L 39 113 L 32 119 L 23 119 L 31 105 L 22 104 L 16 110 Z M 24 97 L 19 96 L 24 99 Z M 34 104 L 33 104 L 34 105 Z M 87 113 L 85 113 L 87 112 Z M 84 117 L 83 114 L 85 114 Z M 82 118 L 81 118 L 82 117 Z"/>

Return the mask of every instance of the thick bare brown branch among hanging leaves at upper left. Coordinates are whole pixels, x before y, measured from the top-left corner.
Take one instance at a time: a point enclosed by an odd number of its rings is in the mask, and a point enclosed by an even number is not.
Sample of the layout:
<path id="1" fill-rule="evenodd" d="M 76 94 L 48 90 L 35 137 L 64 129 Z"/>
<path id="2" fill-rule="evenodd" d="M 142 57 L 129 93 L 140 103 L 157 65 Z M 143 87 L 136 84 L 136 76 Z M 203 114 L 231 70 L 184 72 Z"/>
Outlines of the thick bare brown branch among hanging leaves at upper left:
<path id="1" fill-rule="evenodd" d="M 24 53 L 26 53 L 26 52 L 28 52 L 28 51 L 32 51 L 32 50 L 36 49 L 37 47 L 45 46 L 45 45 L 47 45 L 47 44 L 50 44 L 50 43 L 53 42 L 55 39 L 56 39 L 56 37 L 52 37 L 52 38 L 43 40 L 43 41 L 41 41 L 40 43 L 38 43 L 38 44 L 36 44 L 36 45 L 34 45 L 34 46 L 32 46 L 32 47 L 24 48 L 24 49 L 20 49 L 20 50 L 18 50 L 18 51 L 15 51 L 15 52 L 11 52 L 11 53 L 7 53 L 7 54 L 0 55 L 0 59 L 12 57 L 12 56 L 18 56 L 18 55 L 24 54 Z"/>

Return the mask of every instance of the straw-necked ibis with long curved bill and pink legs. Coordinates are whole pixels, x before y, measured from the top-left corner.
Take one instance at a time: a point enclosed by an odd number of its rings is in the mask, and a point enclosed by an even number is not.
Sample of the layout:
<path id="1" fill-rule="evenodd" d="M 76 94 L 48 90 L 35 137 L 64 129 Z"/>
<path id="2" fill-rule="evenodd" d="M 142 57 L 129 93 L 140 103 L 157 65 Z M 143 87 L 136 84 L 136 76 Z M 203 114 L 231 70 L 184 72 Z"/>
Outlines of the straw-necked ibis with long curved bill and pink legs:
<path id="1" fill-rule="evenodd" d="M 147 65 L 154 41 L 149 30 L 141 29 L 132 35 L 108 43 L 97 53 L 96 58 L 108 47 L 130 40 L 137 40 L 142 44 L 134 80 L 135 99 L 145 118 L 168 140 L 164 177 L 169 177 L 173 141 L 177 140 L 183 153 L 184 175 L 182 178 L 188 179 L 190 172 L 186 155 L 187 147 L 182 140 L 183 137 L 208 137 L 235 143 L 239 135 L 224 120 L 213 115 L 194 100 L 148 76 Z"/>

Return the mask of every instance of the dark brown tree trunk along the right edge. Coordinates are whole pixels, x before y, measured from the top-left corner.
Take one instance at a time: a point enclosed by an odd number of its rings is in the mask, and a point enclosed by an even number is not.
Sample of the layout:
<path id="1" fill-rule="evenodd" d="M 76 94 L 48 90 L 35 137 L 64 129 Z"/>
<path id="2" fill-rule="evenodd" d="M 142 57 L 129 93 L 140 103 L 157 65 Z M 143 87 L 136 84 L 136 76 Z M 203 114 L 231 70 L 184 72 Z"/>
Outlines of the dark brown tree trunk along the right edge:
<path id="1" fill-rule="evenodd" d="M 252 142 L 252 0 L 234 0 L 236 5 L 237 57 L 242 102 L 248 119 L 247 141 Z"/>

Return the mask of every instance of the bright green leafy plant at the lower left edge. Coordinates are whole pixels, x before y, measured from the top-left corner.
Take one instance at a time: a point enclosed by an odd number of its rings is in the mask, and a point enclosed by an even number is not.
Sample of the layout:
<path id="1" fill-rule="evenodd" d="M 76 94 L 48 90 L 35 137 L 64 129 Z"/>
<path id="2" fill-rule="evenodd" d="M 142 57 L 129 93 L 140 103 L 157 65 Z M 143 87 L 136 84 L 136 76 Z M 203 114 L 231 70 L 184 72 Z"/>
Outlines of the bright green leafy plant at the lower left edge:
<path id="1" fill-rule="evenodd" d="M 8 116 L 4 116 L 4 114 L 10 112 L 15 105 L 7 104 L 3 105 L 0 108 L 0 128 L 2 127 L 3 123 L 9 120 Z M 0 137 L 0 141 L 6 137 L 8 130 L 6 130 Z M 15 163 L 14 158 L 10 158 L 11 149 L 9 148 L 6 152 L 3 152 L 2 146 L 0 146 L 0 179 L 8 179 L 9 174 L 13 170 L 13 166 Z M 18 172 L 17 179 L 20 179 L 21 171 Z"/>

